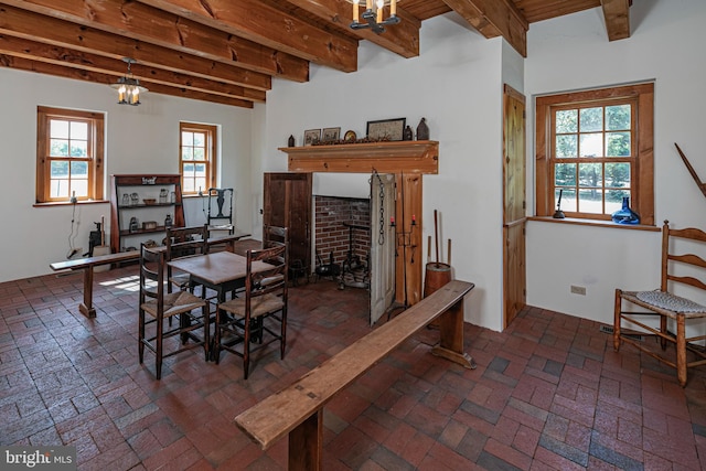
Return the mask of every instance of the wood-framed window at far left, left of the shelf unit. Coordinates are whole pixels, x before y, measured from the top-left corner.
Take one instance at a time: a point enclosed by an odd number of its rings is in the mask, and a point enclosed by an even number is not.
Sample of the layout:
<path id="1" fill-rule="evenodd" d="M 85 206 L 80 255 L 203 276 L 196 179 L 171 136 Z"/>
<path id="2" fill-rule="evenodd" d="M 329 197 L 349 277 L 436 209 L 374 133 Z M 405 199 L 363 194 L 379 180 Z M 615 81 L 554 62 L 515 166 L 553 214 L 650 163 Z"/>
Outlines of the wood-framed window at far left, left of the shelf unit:
<path id="1" fill-rule="evenodd" d="M 104 199 L 104 115 L 36 109 L 36 202 Z"/>

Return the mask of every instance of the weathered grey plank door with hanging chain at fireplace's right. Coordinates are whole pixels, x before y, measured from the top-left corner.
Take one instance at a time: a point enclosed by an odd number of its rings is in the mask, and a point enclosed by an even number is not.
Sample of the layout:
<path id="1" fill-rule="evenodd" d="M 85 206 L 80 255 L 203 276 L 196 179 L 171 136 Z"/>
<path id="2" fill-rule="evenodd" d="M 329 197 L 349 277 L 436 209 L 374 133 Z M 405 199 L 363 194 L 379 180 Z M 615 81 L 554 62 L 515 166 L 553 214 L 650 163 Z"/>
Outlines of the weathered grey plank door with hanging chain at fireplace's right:
<path id="1" fill-rule="evenodd" d="M 395 235 L 389 217 L 395 214 L 395 175 L 371 178 L 371 325 L 395 300 Z"/>

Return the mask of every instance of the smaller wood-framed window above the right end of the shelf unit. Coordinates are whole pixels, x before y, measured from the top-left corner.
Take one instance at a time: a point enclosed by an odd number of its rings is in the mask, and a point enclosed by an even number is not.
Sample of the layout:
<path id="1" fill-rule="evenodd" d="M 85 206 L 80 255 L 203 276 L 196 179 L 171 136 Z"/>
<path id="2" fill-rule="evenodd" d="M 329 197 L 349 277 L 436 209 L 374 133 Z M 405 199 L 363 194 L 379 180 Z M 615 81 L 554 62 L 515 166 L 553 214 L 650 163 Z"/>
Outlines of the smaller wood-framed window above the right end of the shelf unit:
<path id="1" fill-rule="evenodd" d="M 195 195 L 216 186 L 216 127 L 181 122 L 179 128 L 182 193 Z"/>

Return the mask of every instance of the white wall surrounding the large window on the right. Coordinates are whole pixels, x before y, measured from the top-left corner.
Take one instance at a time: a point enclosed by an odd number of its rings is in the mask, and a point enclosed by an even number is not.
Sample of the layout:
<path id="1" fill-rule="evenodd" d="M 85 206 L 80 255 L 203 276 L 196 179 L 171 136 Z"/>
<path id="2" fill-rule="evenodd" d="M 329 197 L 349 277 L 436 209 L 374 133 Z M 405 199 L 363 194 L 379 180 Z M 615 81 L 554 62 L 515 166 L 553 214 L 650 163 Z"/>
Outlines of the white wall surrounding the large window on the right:
<path id="1" fill-rule="evenodd" d="M 655 222 L 706 227 L 706 200 L 674 142 L 706 180 L 706 2 L 642 0 L 632 36 L 609 43 L 600 8 L 531 25 L 527 96 L 655 79 Z M 532 103 L 530 104 L 532 106 Z M 534 207 L 534 107 L 528 108 L 530 205 Z M 531 222 L 527 303 L 612 323 L 616 288 L 659 287 L 660 233 Z M 571 295 L 570 285 L 587 288 Z M 703 300 L 706 301 L 706 300 Z"/>

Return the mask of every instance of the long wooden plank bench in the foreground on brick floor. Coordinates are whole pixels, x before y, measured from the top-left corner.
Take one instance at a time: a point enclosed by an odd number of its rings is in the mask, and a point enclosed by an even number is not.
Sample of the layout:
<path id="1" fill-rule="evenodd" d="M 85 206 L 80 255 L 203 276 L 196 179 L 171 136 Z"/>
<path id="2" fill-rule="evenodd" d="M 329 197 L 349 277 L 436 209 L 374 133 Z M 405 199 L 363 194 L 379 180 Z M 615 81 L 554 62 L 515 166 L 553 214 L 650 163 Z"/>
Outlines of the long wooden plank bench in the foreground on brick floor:
<path id="1" fill-rule="evenodd" d="M 431 353 L 474 368 L 463 352 L 463 298 L 474 285 L 454 280 L 235 418 L 267 450 L 289 435 L 289 470 L 321 470 L 323 406 L 410 335 L 438 318 L 440 342 Z"/>

